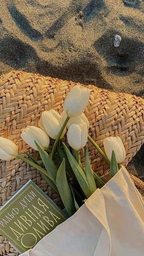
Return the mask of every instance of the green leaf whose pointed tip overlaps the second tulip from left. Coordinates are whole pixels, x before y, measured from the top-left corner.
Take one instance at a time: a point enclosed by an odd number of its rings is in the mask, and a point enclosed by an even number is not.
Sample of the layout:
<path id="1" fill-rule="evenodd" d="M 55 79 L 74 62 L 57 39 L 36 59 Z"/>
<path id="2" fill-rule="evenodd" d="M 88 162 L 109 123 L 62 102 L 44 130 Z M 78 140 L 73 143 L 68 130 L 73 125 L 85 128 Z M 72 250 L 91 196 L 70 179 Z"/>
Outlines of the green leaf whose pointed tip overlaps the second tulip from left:
<path id="1" fill-rule="evenodd" d="M 49 177 L 52 181 L 56 184 L 56 175 L 57 175 L 57 167 L 55 166 L 54 162 L 48 155 L 48 153 L 43 150 L 43 148 L 35 141 L 35 145 L 38 148 L 38 152 L 40 153 L 41 160 L 48 171 Z"/>

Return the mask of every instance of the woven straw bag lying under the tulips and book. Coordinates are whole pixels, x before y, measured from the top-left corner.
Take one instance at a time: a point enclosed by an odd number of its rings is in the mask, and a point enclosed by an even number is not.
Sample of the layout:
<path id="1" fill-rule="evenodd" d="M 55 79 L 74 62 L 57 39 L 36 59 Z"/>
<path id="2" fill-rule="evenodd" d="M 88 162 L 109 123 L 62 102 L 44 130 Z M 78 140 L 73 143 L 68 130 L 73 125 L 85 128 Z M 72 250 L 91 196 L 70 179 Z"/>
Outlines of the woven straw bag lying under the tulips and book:
<path id="1" fill-rule="evenodd" d="M 32 149 L 22 141 L 20 134 L 27 125 L 38 125 L 41 112 L 55 109 L 62 112 L 62 104 L 71 87 L 71 81 L 62 81 L 49 76 L 11 71 L 0 77 L 0 136 L 11 139 L 18 145 L 20 154 Z M 80 84 L 79 84 L 80 85 Z M 91 91 L 85 114 L 90 122 L 89 133 L 103 148 L 106 136 L 120 136 L 126 148 L 127 166 L 144 142 L 144 100 L 135 95 L 109 92 L 95 86 Z M 92 168 L 98 175 L 107 173 L 107 165 L 88 142 Z M 37 152 L 34 152 L 34 155 Z M 84 153 L 81 152 L 82 161 Z M 144 183 L 131 175 L 136 186 L 144 191 Z M 10 199 L 24 183 L 32 178 L 56 203 L 59 197 L 41 178 L 40 173 L 18 159 L 0 163 L 0 204 Z M 0 236 L 0 255 L 15 256 L 18 253 L 7 240 Z"/>

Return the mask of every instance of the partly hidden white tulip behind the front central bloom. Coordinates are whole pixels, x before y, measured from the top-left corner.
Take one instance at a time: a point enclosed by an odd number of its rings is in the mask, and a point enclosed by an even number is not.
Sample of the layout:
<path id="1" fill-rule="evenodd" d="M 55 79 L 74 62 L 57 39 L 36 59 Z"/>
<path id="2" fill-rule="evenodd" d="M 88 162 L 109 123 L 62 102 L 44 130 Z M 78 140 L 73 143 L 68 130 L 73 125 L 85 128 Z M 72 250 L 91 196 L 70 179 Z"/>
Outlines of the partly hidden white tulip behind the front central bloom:
<path id="1" fill-rule="evenodd" d="M 63 120 L 65 121 L 65 119 L 67 118 L 67 114 L 66 114 L 65 111 L 62 112 L 62 117 L 63 117 Z M 87 117 L 84 113 L 82 113 L 78 117 L 71 117 L 70 120 L 67 123 L 67 128 L 70 128 L 70 126 L 73 123 L 76 123 L 76 125 L 80 125 L 83 122 L 87 123 L 87 128 L 89 129 L 90 124 L 89 124 L 89 121 L 88 121 L 88 119 L 87 119 Z"/>

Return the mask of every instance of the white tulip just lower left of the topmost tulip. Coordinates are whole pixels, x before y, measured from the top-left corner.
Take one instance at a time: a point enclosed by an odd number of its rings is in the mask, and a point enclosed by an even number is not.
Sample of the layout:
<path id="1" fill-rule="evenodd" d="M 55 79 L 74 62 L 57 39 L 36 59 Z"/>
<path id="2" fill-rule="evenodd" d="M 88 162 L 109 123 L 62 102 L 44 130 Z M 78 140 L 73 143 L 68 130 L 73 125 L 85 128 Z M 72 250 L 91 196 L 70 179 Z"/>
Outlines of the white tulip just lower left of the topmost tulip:
<path id="1" fill-rule="evenodd" d="M 62 116 L 57 111 L 51 109 L 50 111 L 42 112 L 38 125 L 43 130 L 45 130 L 45 132 L 49 135 L 49 137 L 51 137 L 52 139 L 56 139 L 63 125 L 63 122 L 64 120 Z M 61 137 L 63 137 L 65 133 L 66 133 L 66 128 L 64 129 Z"/>

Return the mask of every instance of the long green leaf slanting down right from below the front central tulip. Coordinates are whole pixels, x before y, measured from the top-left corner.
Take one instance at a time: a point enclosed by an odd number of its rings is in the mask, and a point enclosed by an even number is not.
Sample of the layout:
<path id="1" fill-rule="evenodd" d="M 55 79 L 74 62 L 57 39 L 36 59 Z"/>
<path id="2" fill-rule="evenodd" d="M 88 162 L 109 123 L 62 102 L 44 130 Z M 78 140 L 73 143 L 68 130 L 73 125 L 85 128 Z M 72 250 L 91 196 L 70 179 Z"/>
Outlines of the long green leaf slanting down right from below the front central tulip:
<path id="1" fill-rule="evenodd" d="M 71 165 L 71 168 L 73 169 L 74 175 L 77 178 L 77 181 L 79 185 L 81 186 L 82 191 L 84 192 L 85 196 L 88 198 L 91 196 L 90 188 L 87 183 L 87 178 L 85 177 L 85 173 L 82 170 L 82 168 L 77 163 L 74 156 L 71 154 L 70 150 L 68 150 L 67 146 L 63 143 L 63 148 L 65 150 L 65 153 L 67 154 L 68 161 Z"/>

